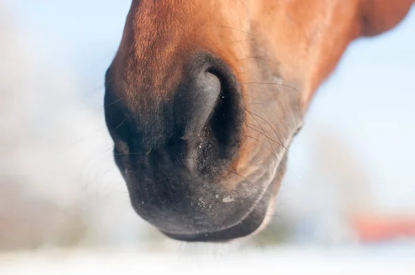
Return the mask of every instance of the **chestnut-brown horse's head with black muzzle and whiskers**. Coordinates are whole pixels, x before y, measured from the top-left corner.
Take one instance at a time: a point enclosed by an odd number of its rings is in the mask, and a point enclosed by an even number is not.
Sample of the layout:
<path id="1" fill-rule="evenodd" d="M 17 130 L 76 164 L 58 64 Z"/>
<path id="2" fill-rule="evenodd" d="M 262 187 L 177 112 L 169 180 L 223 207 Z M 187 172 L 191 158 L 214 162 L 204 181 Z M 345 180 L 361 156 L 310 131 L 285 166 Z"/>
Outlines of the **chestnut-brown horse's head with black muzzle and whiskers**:
<path id="1" fill-rule="evenodd" d="M 412 3 L 133 0 L 104 116 L 138 216 L 185 242 L 264 229 L 320 84 Z"/>

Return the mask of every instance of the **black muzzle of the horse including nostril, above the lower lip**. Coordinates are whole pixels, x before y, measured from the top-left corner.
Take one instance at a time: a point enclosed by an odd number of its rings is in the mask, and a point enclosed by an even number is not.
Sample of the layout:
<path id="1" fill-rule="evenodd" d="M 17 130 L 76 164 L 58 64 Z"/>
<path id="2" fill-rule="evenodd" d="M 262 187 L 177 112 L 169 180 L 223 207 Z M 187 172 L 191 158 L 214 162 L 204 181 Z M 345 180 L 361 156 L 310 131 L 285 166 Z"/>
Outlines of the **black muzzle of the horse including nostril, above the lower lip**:
<path id="1" fill-rule="evenodd" d="M 120 81 L 110 67 L 106 76 L 105 118 L 131 204 L 172 234 L 237 224 L 253 200 L 224 205 L 228 193 L 220 188 L 243 137 L 246 111 L 237 77 L 209 54 L 163 68 Z M 160 75 L 162 84 L 153 81 Z"/>

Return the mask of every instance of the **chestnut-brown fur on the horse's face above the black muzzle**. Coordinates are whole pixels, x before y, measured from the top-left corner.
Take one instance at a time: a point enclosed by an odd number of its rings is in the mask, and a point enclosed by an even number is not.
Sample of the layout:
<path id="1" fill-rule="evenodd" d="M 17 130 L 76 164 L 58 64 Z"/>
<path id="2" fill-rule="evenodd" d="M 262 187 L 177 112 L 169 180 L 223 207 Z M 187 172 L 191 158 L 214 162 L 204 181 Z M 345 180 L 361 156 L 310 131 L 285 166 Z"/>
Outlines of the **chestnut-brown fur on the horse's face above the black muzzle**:
<path id="1" fill-rule="evenodd" d="M 302 108 L 306 109 L 350 42 L 394 28 L 412 3 L 412 0 L 133 1 L 114 61 L 124 66 L 116 66 L 116 75 L 124 76 L 120 85 L 129 103 L 142 100 L 156 104 L 178 81 L 180 72 L 170 70 L 172 64 L 179 68 L 178 64 L 196 48 L 211 50 L 239 72 L 244 63 L 255 62 L 248 48 L 251 41 L 258 41 L 268 44 L 267 54 L 277 59 L 286 82 L 295 83 L 300 89 Z M 141 67 L 146 70 L 137 69 Z M 239 73 L 241 83 L 257 80 L 249 77 L 249 72 Z M 137 83 L 143 87 L 139 89 Z M 244 150 L 250 151 L 249 146 Z M 246 155 L 244 151 L 239 154 Z M 243 158 L 239 162 L 244 162 Z"/>

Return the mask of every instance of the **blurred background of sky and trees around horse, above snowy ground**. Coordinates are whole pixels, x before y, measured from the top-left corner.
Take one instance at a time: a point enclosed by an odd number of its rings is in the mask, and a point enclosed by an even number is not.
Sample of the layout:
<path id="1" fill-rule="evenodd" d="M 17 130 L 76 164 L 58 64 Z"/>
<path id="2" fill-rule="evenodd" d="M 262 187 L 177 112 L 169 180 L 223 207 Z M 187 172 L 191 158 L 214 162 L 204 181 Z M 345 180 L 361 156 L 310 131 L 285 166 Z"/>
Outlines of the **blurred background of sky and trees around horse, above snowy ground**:
<path id="1" fill-rule="evenodd" d="M 113 164 L 103 78 L 130 3 L 0 3 L 0 271 L 12 253 L 81 248 L 415 258 L 414 8 L 393 31 L 353 43 L 320 88 L 270 227 L 201 247 L 138 218 Z"/>

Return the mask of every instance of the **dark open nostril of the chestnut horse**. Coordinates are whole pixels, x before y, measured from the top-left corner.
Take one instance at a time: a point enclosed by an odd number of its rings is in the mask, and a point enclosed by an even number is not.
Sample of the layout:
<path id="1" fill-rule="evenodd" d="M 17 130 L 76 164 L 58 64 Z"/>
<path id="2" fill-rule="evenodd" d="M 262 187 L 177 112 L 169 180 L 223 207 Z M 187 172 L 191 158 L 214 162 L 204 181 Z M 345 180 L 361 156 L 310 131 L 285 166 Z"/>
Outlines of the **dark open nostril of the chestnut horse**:
<path id="1" fill-rule="evenodd" d="M 221 59 L 204 55 L 186 66 L 174 108 L 190 169 L 205 171 L 232 158 L 241 138 L 241 97 L 237 78 Z"/>

